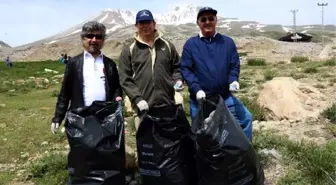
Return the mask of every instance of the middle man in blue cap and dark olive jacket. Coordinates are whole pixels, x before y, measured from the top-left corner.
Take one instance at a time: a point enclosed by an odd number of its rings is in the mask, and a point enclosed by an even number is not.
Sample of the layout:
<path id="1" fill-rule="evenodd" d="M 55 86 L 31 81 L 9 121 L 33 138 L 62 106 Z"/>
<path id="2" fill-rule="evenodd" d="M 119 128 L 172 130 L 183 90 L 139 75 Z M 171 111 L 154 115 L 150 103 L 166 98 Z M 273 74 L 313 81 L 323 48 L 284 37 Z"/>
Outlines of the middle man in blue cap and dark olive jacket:
<path id="1" fill-rule="evenodd" d="M 149 10 L 139 11 L 134 41 L 123 48 L 119 57 L 120 84 L 136 112 L 136 129 L 143 111 L 182 103 L 175 100 L 175 90 L 183 89 L 179 54 L 155 26 Z"/>

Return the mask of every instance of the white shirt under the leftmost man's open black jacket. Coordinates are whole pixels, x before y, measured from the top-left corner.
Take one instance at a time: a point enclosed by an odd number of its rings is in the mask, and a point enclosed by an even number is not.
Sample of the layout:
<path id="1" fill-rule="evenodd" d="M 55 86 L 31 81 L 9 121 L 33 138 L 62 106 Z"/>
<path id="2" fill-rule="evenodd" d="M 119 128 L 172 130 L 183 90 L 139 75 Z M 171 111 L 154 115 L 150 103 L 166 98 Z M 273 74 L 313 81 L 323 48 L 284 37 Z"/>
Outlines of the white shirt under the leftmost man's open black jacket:
<path id="1" fill-rule="evenodd" d="M 90 106 L 95 100 L 106 100 L 102 53 L 95 59 L 90 53 L 84 51 L 83 88 L 85 106 Z"/>

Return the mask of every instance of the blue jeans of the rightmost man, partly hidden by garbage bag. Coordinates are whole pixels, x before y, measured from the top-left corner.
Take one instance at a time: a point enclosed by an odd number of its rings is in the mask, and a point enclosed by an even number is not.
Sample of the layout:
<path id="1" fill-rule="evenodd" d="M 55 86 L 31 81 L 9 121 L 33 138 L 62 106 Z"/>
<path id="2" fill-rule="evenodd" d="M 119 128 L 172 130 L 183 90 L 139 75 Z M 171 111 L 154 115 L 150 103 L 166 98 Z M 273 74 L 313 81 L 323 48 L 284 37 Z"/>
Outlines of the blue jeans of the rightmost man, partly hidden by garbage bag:
<path id="1" fill-rule="evenodd" d="M 247 108 L 233 95 L 229 96 L 225 101 L 232 115 L 236 118 L 240 127 L 247 138 L 252 141 L 252 114 Z M 198 102 L 196 100 L 189 100 L 191 120 L 194 120 L 198 112 Z"/>

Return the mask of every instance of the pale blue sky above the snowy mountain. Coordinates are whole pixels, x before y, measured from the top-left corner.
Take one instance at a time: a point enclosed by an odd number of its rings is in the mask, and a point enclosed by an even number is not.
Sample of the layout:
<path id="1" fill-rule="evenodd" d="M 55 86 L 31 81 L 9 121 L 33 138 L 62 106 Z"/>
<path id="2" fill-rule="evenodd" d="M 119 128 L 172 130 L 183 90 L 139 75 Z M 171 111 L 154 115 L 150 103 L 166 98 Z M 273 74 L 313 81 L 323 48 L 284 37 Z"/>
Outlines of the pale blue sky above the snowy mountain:
<path id="1" fill-rule="evenodd" d="M 320 24 L 321 8 L 327 2 L 325 24 L 336 25 L 335 0 L 0 0 L 0 40 L 18 46 L 66 30 L 91 18 L 106 8 L 134 11 L 150 9 L 153 13 L 175 6 L 195 4 L 212 6 L 223 17 L 254 20 L 263 24 L 292 24 L 290 10 L 298 9 L 297 24 Z M 333 11 L 334 10 L 334 11 Z"/>

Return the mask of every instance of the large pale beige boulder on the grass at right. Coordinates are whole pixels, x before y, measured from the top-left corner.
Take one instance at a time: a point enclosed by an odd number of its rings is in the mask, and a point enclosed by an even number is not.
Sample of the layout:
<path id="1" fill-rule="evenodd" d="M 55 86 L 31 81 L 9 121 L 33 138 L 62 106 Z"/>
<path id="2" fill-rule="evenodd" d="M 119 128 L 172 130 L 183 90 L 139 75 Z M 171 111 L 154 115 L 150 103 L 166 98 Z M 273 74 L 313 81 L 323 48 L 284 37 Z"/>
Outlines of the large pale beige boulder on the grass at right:
<path id="1" fill-rule="evenodd" d="M 328 106 L 319 90 L 291 77 L 277 77 L 263 85 L 257 99 L 268 120 L 317 119 Z"/>

